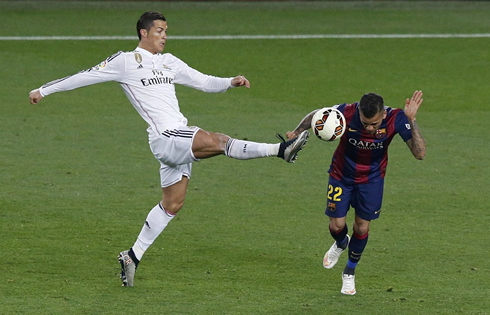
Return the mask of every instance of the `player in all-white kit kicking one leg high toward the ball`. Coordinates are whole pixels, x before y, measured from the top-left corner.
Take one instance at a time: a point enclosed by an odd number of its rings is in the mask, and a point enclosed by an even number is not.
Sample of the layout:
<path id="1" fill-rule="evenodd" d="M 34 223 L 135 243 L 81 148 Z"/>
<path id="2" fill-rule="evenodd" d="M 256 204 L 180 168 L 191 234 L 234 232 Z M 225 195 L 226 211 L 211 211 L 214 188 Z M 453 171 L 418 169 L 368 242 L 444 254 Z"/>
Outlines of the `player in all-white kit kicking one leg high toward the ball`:
<path id="1" fill-rule="evenodd" d="M 97 66 L 49 82 L 29 94 L 31 104 L 37 104 L 55 92 L 116 81 L 148 124 L 150 149 L 160 161 L 162 200 L 148 214 L 134 245 L 119 254 L 124 286 L 133 286 L 143 254 L 184 205 L 194 161 L 225 154 L 240 160 L 277 156 L 294 163 L 308 139 L 308 132 L 304 131 L 282 143 L 256 143 L 188 127 L 187 119 L 180 112 L 175 84 L 204 92 L 224 92 L 232 87 L 249 88 L 250 82 L 244 76 L 206 75 L 170 53 L 162 54 L 167 22 L 159 12 L 143 13 L 136 28 L 139 44 L 134 51 L 118 52 Z"/>

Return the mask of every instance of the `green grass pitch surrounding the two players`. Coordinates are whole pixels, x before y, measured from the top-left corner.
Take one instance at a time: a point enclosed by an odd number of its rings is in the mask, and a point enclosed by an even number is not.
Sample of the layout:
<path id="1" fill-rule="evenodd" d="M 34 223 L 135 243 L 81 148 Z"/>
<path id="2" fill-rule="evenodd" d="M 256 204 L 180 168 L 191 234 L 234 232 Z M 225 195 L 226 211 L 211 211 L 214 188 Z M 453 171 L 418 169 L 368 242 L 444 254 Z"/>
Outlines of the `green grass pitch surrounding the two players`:
<path id="1" fill-rule="evenodd" d="M 116 83 L 37 106 L 28 93 L 137 41 L 0 40 L 1 314 L 490 314 L 490 38 L 171 38 L 488 34 L 490 3 L 0 1 L 0 37 L 132 36 L 148 9 L 168 20 L 166 51 L 252 84 L 178 87 L 191 125 L 274 142 L 315 108 L 365 92 L 402 107 L 422 89 L 427 158 L 391 145 L 355 296 L 340 294 L 346 255 L 321 265 L 335 144 L 313 138 L 296 164 L 195 163 L 184 208 L 122 288 L 117 254 L 161 194 L 145 123 Z"/>

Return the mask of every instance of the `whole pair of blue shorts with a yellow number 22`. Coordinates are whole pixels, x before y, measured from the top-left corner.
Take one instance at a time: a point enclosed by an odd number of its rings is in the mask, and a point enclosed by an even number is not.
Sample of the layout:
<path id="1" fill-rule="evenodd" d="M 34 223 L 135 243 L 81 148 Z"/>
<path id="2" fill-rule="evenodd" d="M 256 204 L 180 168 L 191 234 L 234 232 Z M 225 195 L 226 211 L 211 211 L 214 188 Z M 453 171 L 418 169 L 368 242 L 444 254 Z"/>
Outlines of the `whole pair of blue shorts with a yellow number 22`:
<path id="1" fill-rule="evenodd" d="M 384 179 L 367 184 L 347 185 L 329 176 L 325 214 L 332 218 L 343 218 L 352 206 L 361 219 L 377 219 L 383 201 L 383 187 Z"/>

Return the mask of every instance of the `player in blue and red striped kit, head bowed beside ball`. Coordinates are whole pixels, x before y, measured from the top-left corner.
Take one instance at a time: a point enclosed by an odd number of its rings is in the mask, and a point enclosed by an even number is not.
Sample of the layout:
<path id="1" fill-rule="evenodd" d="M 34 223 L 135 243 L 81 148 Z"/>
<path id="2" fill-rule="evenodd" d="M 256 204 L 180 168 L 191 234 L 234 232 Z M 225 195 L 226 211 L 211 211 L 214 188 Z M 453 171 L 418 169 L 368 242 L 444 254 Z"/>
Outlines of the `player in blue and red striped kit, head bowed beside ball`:
<path id="1" fill-rule="evenodd" d="M 383 98 L 375 93 L 364 94 L 359 102 L 341 104 L 346 131 L 341 137 L 329 169 L 327 207 L 330 234 L 335 242 L 323 259 L 331 269 L 345 249 L 349 259 L 342 272 L 341 292 L 356 294 L 355 268 L 368 241 L 369 223 L 379 217 L 383 199 L 384 177 L 388 164 L 388 146 L 399 134 L 413 156 L 425 157 L 425 141 L 415 118 L 422 104 L 422 91 L 415 91 L 405 101 L 405 109 L 384 106 Z M 314 110 L 287 137 L 293 139 L 311 128 Z M 349 207 L 355 209 L 352 237 L 348 235 L 346 216 Z"/>

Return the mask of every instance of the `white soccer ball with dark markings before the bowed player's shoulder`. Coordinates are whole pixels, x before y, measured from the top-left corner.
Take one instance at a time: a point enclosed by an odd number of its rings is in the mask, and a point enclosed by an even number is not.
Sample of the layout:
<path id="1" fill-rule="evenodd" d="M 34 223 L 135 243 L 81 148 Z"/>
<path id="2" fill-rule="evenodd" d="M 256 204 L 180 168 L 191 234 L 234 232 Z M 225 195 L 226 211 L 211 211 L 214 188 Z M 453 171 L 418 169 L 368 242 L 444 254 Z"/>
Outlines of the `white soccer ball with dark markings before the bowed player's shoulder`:
<path id="1" fill-rule="evenodd" d="M 324 107 L 313 115 L 311 129 L 321 140 L 337 140 L 344 134 L 345 117 L 338 109 Z"/>

